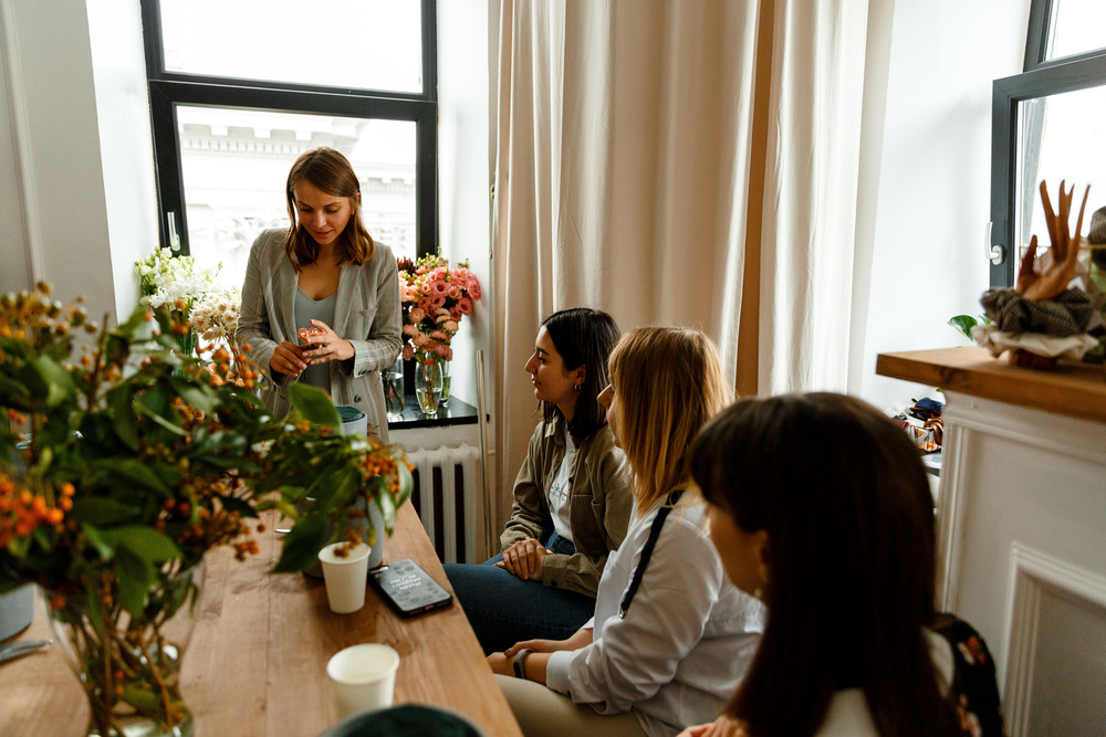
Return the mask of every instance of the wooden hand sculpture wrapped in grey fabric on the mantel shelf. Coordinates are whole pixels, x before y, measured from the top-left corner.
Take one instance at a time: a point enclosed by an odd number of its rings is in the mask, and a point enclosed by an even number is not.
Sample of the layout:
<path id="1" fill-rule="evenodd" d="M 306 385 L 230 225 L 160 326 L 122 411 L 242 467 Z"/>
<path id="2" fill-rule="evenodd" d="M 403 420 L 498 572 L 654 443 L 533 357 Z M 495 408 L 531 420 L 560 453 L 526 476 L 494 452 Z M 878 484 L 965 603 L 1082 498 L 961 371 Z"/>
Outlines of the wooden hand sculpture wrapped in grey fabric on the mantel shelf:
<path id="1" fill-rule="evenodd" d="M 1053 210 L 1048 188 L 1041 182 L 1041 202 L 1052 248 L 1036 263 L 1037 236 L 1018 270 L 1014 288 L 988 289 L 981 299 L 990 325 L 972 328 L 975 341 L 993 356 L 1010 351 L 1010 362 L 1027 368 L 1052 368 L 1060 357 L 1078 360 L 1097 340 L 1086 335 L 1096 306 L 1082 289 L 1068 287 L 1078 267 L 1083 213 L 1087 207 L 1087 187 L 1079 208 L 1074 235 L 1068 232 L 1072 198 L 1060 182 L 1060 210 Z"/>

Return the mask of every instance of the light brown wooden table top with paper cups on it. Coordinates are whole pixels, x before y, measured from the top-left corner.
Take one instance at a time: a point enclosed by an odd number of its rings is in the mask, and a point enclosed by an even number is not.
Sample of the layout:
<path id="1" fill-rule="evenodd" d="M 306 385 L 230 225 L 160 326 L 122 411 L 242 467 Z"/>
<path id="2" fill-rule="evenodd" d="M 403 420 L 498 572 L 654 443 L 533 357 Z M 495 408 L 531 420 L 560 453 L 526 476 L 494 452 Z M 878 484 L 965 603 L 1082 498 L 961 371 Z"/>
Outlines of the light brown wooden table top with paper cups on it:
<path id="1" fill-rule="evenodd" d="M 368 588 L 365 607 L 333 614 L 323 582 L 269 575 L 280 555 L 273 519 L 261 552 L 238 562 L 208 555 L 198 621 L 185 654 L 181 692 L 200 737 L 312 737 L 338 720 L 326 661 L 352 644 L 399 652 L 396 704 L 436 704 L 471 717 L 490 737 L 521 735 L 460 607 L 401 619 Z M 411 558 L 449 588 L 410 503 L 399 510 L 385 560 Z M 48 638 L 41 612 L 19 639 Z M 56 646 L 0 665 L 0 737 L 83 735 L 88 707 Z"/>

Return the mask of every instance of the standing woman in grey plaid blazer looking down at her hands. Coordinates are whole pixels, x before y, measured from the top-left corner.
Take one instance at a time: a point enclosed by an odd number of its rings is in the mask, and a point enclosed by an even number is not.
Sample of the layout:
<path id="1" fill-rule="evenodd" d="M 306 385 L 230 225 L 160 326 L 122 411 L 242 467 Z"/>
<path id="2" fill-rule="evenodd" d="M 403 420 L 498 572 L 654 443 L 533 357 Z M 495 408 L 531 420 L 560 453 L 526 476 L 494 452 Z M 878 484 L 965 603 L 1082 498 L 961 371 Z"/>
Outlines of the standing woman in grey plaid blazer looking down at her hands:
<path id="1" fill-rule="evenodd" d="M 264 372 L 261 397 L 278 417 L 299 380 L 365 412 L 387 441 L 379 371 L 401 348 L 396 260 L 365 230 L 361 183 L 341 152 L 303 152 L 284 191 L 291 228 L 254 241 L 234 338 Z"/>

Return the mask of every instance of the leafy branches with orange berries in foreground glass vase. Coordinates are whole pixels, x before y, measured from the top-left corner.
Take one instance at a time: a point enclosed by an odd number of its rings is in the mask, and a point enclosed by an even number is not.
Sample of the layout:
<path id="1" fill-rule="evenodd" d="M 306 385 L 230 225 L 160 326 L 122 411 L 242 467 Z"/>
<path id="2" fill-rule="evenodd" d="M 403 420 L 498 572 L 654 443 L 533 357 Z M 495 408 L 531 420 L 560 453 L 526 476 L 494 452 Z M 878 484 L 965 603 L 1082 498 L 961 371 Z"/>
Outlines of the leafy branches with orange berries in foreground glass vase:
<path id="1" fill-rule="evenodd" d="M 274 571 L 302 570 L 335 541 L 327 529 L 366 516 L 358 502 L 380 513 L 368 536 L 390 534 L 410 468 L 393 446 L 341 434 L 313 387 L 292 387 L 291 413 L 274 418 L 243 362 L 241 386 L 227 380 L 227 348 L 210 365 L 182 352 L 180 310 L 100 328 L 49 295 L 0 297 L 0 593 L 38 583 L 70 628 L 79 666 L 96 671 L 90 735 L 189 734 L 169 687 L 184 642 L 168 628 L 192 613 L 204 554 L 257 552 L 264 527 L 247 520 L 276 509 L 294 526 Z"/>

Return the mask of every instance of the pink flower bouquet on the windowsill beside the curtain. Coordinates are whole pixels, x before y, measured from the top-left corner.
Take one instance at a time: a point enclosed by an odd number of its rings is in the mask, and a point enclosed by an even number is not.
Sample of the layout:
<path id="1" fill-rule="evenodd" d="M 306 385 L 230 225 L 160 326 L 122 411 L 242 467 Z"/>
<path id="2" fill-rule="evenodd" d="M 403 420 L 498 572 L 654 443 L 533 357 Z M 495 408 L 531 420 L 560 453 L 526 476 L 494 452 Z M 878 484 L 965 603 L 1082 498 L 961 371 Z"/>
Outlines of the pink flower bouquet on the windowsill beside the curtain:
<path id="1" fill-rule="evenodd" d="M 438 255 L 422 256 L 417 263 L 400 259 L 399 298 L 404 308 L 404 359 L 416 358 L 431 365 L 452 360 L 449 347 L 461 317 L 471 315 L 480 299 L 480 282 L 462 261 L 456 269 Z"/>

